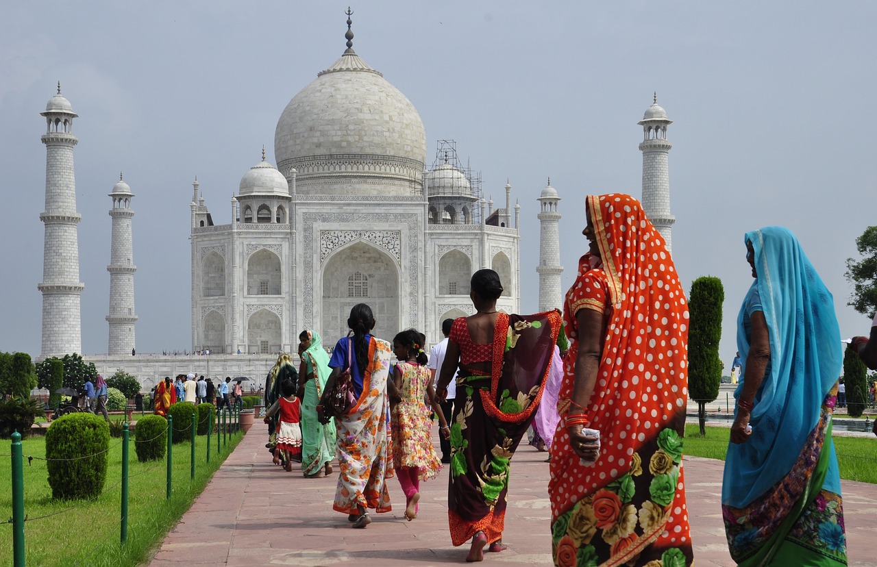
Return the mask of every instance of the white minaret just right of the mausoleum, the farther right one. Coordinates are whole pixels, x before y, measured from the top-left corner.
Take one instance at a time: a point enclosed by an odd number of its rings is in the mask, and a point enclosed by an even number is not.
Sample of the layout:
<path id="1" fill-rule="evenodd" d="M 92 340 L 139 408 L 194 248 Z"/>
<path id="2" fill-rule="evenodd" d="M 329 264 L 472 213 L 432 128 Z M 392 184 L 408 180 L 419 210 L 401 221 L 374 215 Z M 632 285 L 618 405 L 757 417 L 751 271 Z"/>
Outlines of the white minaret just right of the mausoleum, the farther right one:
<path id="1" fill-rule="evenodd" d="M 560 266 L 560 213 L 558 203 L 560 197 L 551 186 L 542 189 L 538 198 L 540 212 L 539 219 L 539 265 L 536 271 L 539 274 L 539 311 L 563 308 L 563 295 L 560 293 L 560 274 L 563 266 Z"/>

